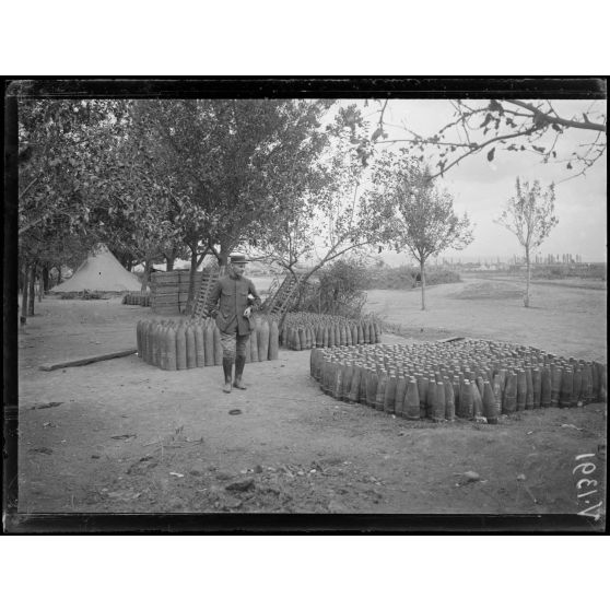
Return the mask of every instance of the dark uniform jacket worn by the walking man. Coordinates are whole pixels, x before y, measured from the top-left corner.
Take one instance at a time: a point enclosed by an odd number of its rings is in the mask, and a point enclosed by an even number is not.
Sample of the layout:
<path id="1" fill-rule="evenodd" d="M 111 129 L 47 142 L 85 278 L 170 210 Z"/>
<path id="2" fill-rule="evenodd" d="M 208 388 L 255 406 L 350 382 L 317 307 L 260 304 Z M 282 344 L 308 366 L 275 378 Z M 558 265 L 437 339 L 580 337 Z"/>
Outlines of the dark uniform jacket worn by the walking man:
<path id="1" fill-rule="evenodd" d="M 260 296 L 251 280 L 228 274 L 216 282 L 210 295 L 210 303 L 215 306 L 220 300 L 216 326 L 221 332 L 232 335 L 237 331 L 237 335 L 249 335 L 250 330 L 254 330 L 254 319 L 244 317 L 246 307 L 250 305 L 248 294 L 255 297 L 253 308 L 259 306 Z"/>

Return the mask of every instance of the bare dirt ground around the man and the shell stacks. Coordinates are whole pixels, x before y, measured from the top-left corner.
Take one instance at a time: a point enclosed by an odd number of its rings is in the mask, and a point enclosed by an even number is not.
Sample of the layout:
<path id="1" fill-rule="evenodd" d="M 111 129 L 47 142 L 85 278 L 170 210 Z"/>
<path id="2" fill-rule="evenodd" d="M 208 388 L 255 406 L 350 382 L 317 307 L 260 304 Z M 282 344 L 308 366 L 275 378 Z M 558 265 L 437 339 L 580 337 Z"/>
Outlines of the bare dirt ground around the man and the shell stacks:
<path id="1" fill-rule="evenodd" d="M 371 291 L 367 307 L 410 335 L 385 343 L 481 337 L 606 361 L 606 291 L 533 288 L 529 309 L 515 281 L 476 277 L 431 288 L 427 312 L 419 291 Z M 19 333 L 22 514 L 575 514 L 602 502 L 603 523 L 606 404 L 409 422 L 322 394 L 309 351 L 248 364 L 248 389 L 231 395 L 221 367 L 166 372 L 137 355 L 42 372 L 134 348 L 137 320 L 154 316 L 119 297 L 36 308 Z M 584 460 L 586 477 L 574 472 Z"/>

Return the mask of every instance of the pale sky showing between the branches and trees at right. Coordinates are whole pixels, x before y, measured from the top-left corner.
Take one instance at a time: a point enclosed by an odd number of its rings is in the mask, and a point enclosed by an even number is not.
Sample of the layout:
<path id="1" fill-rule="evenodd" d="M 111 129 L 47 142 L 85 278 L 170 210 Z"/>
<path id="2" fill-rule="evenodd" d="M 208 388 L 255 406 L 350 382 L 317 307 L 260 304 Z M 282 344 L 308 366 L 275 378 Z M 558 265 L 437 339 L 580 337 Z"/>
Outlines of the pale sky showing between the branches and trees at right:
<path id="1" fill-rule="evenodd" d="M 536 101 L 530 101 L 536 102 Z M 353 103 L 344 101 L 342 104 Z M 362 105 L 362 102 L 357 102 Z M 606 112 L 606 101 L 594 103 L 594 110 Z M 582 117 L 590 112 L 591 101 L 554 101 L 553 107 L 564 118 Z M 373 114 L 376 106 L 368 104 L 363 114 L 368 120 L 376 120 Z M 390 101 L 385 120 L 397 127 L 386 129 L 388 139 L 403 137 L 400 128 L 406 124 L 409 129 L 421 136 L 433 134 L 435 130 L 451 119 L 453 107 L 446 99 L 396 99 Z M 593 120 L 593 118 L 591 118 Z M 588 142 L 597 132 L 567 129 L 561 137 L 561 150 L 568 154 L 576 146 Z M 540 142 L 542 143 L 542 142 Z M 397 145 L 398 146 L 398 145 Z M 561 156 L 558 150 L 558 157 Z M 438 186 L 447 189 L 454 197 L 454 208 L 458 215 L 467 212 L 474 226 L 474 241 L 460 251 L 447 250 L 442 257 L 473 259 L 507 259 L 520 254 L 517 238 L 506 228 L 495 224 L 503 206 L 515 192 L 515 179 L 532 181 L 539 179 L 546 186 L 551 181 L 555 187 L 555 215 L 559 224 L 542 244 L 542 255 L 580 255 L 584 261 L 605 261 L 607 246 L 607 171 L 606 153 L 587 172 L 586 176 L 562 181 L 571 174 L 562 164 L 542 164 L 532 153 L 509 153 L 496 149 L 495 159 L 488 162 L 485 152 L 467 157 L 458 166 L 451 167 L 445 177 L 438 178 Z M 382 258 L 389 265 L 408 261 L 406 254 L 387 254 Z"/>

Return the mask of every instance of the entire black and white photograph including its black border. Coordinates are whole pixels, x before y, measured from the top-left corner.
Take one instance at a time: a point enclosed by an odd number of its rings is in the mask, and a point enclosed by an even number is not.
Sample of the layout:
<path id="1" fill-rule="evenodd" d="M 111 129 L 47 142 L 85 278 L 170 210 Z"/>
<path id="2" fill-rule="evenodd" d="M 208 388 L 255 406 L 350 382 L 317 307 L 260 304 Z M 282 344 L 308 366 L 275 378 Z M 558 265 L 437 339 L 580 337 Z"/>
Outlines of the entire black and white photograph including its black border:
<path id="1" fill-rule="evenodd" d="M 605 530 L 606 79 L 4 102 L 9 530 Z"/>

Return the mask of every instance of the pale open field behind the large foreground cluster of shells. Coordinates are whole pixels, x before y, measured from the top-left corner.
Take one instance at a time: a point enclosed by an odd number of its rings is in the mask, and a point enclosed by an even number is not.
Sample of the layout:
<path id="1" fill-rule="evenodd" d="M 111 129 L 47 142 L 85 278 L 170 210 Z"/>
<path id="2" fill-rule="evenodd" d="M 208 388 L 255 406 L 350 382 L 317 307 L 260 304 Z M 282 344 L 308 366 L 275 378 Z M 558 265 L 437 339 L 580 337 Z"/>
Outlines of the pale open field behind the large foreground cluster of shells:
<path id="1" fill-rule="evenodd" d="M 586 282 L 535 282 L 526 308 L 523 280 L 465 274 L 459 284 L 426 288 L 424 312 L 419 289 L 368 291 L 365 308 L 413 337 L 479 337 L 606 362 L 607 295 Z"/>

